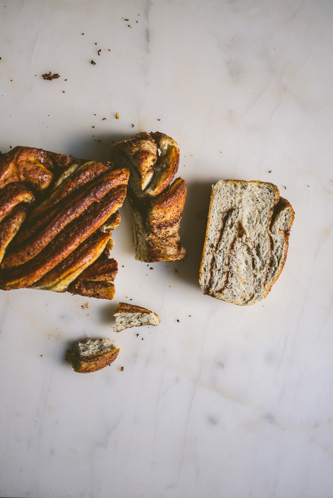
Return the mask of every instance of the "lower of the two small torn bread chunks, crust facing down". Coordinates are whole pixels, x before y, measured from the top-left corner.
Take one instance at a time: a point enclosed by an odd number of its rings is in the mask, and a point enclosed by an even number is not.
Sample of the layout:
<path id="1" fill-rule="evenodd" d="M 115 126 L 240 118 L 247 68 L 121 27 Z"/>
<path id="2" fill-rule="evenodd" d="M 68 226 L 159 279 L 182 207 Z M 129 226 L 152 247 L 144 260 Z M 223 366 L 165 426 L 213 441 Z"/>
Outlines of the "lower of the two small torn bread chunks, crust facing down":
<path id="1" fill-rule="evenodd" d="M 117 358 L 119 351 L 114 341 L 107 337 L 96 341 L 85 339 L 78 341 L 73 349 L 67 351 L 66 360 L 75 372 L 97 372 L 97 370 L 111 365 Z"/>

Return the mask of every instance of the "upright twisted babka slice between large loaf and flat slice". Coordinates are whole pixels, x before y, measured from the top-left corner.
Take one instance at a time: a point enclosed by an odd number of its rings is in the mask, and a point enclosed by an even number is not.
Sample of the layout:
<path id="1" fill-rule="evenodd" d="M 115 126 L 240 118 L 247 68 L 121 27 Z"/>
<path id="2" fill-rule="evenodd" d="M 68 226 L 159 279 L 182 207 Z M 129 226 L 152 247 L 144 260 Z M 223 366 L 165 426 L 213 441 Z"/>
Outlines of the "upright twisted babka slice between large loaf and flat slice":
<path id="1" fill-rule="evenodd" d="M 172 181 L 179 164 L 177 143 L 164 133 L 141 132 L 111 147 L 111 159 L 129 168 L 134 246 L 139 261 L 174 261 L 186 251 L 179 241 L 186 198 L 182 178 Z"/>

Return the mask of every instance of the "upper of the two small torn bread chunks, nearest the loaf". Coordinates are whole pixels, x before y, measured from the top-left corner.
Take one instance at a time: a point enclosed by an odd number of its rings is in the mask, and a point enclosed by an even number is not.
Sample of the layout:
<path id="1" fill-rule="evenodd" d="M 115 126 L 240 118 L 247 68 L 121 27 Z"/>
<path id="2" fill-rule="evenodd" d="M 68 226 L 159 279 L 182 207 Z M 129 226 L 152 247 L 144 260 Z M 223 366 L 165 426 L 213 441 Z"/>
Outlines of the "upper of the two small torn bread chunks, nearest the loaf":
<path id="1" fill-rule="evenodd" d="M 116 317 L 116 327 L 112 327 L 114 332 L 142 325 L 158 325 L 161 322 L 156 313 L 135 304 L 119 303 L 113 316 Z"/>

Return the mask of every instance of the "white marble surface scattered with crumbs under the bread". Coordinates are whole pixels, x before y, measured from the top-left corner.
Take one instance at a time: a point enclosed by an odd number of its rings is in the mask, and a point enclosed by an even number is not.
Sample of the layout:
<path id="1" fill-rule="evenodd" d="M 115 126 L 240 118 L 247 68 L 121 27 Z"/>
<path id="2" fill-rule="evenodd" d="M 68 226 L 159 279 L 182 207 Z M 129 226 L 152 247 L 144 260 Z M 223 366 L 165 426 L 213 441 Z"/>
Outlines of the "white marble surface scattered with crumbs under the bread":
<path id="1" fill-rule="evenodd" d="M 125 204 L 114 301 L 0 292 L 1 497 L 333 496 L 332 25 L 330 0 L 0 0 L 0 149 L 106 160 L 171 135 L 189 252 L 136 262 Z M 271 181 L 296 213 L 249 308 L 197 283 L 221 178 Z M 161 324 L 112 333 L 129 299 Z M 115 363 L 74 373 L 68 345 L 105 336 Z"/>

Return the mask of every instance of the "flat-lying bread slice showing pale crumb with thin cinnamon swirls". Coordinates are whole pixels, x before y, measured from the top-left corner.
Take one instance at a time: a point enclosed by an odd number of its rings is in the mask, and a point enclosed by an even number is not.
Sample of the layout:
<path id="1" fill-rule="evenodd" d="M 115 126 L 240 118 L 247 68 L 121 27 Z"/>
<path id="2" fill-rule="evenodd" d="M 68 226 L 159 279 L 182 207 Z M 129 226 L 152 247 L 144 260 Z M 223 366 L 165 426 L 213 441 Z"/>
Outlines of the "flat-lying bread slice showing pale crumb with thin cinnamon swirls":
<path id="1" fill-rule="evenodd" d="M 220 180 L 213 186 L 199 283 L 238 305 L 264 299 L 287 257 L 294 211 L 272 183 Z"/>

